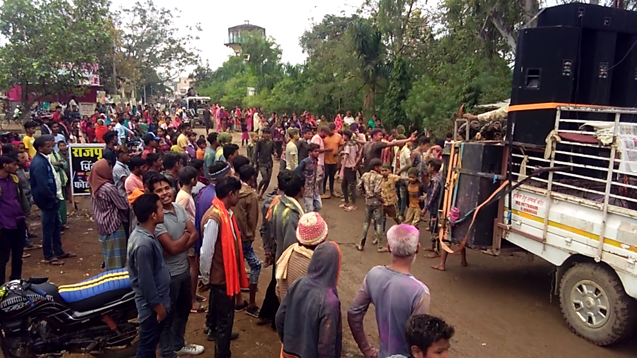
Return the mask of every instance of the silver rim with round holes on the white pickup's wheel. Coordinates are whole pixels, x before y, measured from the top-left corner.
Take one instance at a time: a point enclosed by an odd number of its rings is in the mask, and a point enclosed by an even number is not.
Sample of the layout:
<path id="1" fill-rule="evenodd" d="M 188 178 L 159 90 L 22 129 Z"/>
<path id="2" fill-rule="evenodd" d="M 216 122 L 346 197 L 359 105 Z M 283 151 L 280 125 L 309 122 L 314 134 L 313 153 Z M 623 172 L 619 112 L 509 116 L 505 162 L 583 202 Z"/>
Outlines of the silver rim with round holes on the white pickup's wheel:
<path id="1" fill-rule="evenodd" d="M 571 290 L 571 309 L 583 325 L 599 328 L 608 322 L 610 304 L 608 296 L 598 283 L 580 280 Z"/>

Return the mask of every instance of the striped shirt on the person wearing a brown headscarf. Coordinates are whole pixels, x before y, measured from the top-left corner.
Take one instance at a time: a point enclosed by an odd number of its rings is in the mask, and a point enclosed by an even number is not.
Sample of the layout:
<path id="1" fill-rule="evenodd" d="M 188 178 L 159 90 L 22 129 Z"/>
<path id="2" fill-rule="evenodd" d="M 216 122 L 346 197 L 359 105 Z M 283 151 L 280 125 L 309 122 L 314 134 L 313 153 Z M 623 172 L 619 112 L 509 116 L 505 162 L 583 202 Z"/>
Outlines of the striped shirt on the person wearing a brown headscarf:
<path id="1" fill-rule="evenodd" d="M 97 197 L 90 196 L 90 204 L 97 234 L 112 234 L 122 225 L 122 222 L 127 221 L 128 201 L 112 183 L 104 183 L 99 187 Z"/>

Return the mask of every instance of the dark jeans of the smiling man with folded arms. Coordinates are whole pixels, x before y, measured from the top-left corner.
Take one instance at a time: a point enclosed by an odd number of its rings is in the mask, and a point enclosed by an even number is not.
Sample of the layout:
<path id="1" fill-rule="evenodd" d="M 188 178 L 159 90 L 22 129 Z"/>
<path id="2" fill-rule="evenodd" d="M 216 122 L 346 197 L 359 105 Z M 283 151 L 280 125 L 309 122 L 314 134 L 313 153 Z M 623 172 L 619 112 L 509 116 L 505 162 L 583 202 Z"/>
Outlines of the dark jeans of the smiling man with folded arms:
<path id="1" fill-rule="evenodd" d="M 159 350 L 163 358 L 175 358 L 176 351 L 183 348 L 188 315 L 192 308 L 190 289 L 190 270 L 170 278 L 171 311 L 166 317 L 166 326 L 162 329 Z"/>

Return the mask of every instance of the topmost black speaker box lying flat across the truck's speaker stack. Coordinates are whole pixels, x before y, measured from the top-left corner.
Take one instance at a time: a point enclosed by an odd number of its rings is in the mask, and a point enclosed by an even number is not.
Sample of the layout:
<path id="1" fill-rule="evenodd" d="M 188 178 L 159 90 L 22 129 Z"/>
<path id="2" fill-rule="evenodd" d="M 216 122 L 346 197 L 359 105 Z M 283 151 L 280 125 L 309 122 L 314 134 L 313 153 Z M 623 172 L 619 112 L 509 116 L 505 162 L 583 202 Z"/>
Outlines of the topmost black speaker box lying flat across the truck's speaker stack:
<path id="1" fill-rule="evenodd" d="M 544 8 L 538 15 L 538 27 L 573 26 L 609 32 L 637 34 L 634 11 L 584 3 L 568 3 Z"/>

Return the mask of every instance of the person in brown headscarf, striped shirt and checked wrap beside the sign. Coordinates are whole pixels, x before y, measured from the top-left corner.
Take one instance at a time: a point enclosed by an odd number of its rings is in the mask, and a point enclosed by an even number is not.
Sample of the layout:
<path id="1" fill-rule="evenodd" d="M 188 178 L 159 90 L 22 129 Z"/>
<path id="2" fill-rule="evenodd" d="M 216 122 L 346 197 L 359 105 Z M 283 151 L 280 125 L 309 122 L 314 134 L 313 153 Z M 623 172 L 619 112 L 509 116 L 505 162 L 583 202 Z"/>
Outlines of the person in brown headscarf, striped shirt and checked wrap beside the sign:
<path id="1" fill-rule="evenodd" d="M 126 266 L 127 240 L 124 222 L 129 203 L 113 184 L 112 168 L 106 159 L 95 162 L 89 175 L 90 204 L 102 246 L 106 270 Z"/>

